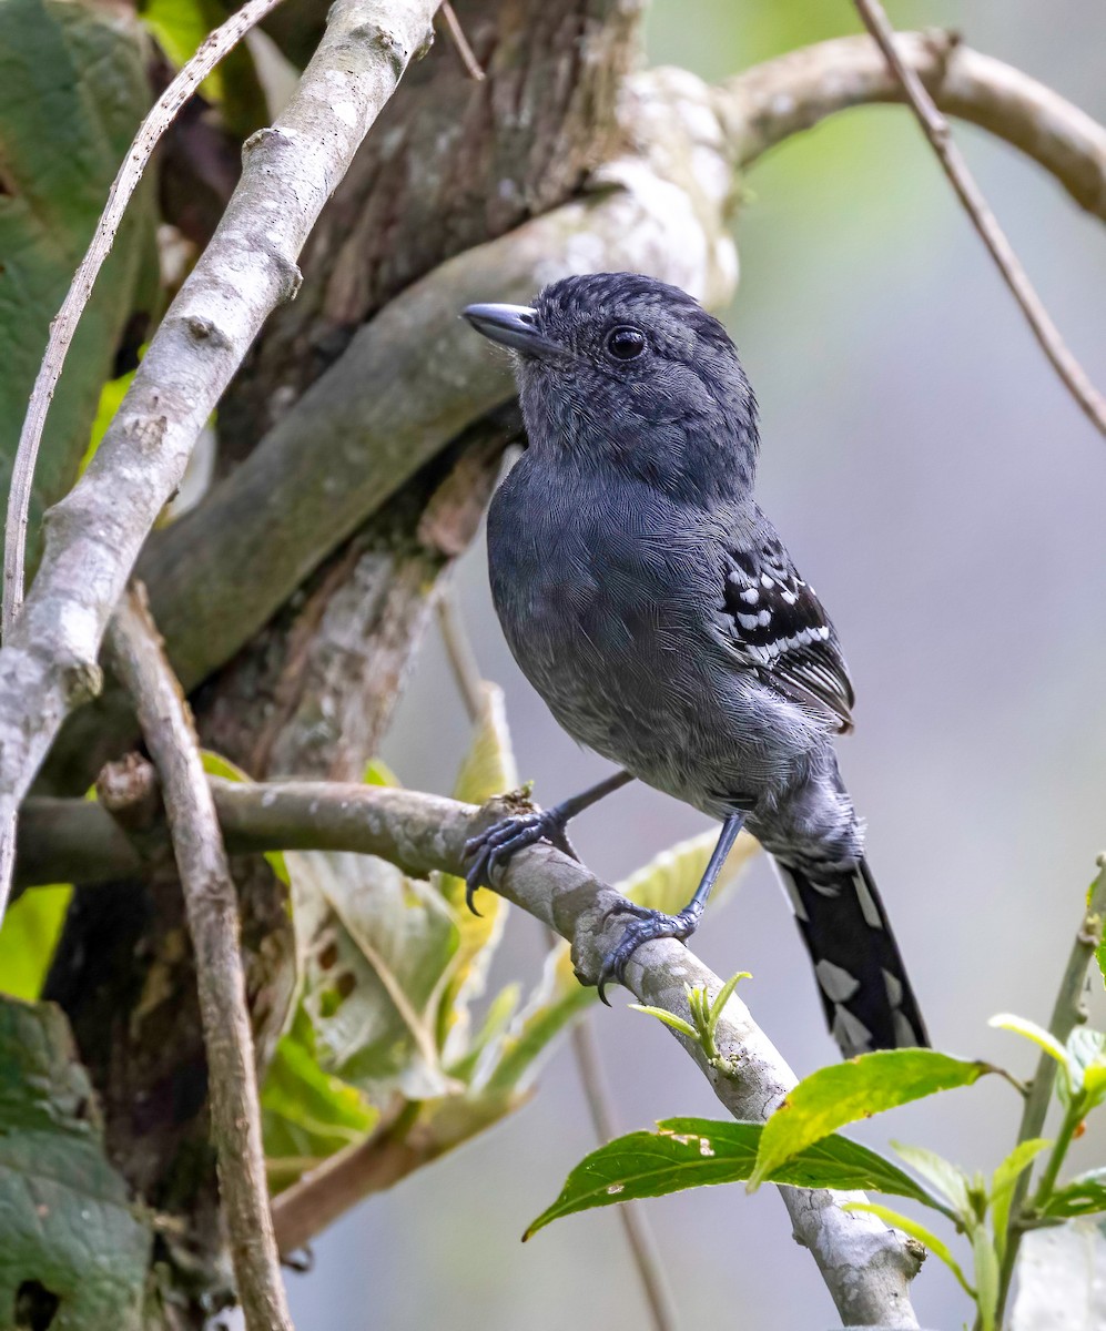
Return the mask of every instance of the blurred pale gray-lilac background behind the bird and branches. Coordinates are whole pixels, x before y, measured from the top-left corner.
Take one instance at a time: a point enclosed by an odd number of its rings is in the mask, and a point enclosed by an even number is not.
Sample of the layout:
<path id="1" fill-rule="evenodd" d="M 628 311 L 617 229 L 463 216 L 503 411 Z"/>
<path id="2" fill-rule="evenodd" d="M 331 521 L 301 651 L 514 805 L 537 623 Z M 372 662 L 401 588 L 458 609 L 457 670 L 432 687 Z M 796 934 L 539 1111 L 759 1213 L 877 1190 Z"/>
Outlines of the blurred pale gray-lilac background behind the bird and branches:
<path id="1" fill-rule="evenodd" d="M 901 27 L 956 27 L 973 47 L 1106 120 L 1101 0 L 894 4 Z M 846 0 L 653 0 L 648 57 L 711 79 L 857 31 Z M 1069 345 L 1106 385 L 1106 236 L 1051 178 L 982 133 L 957 138 Z M 842 769 L 934 1042 L 1031 1067 L 988 1029 L 1013 1009 L 1046 1022 L 1082 892 L 1106 847 L 1106 451 L 1061 387 L 900 108 L 837 117 L 748 178 L 741 282 L 725 313 L 763 411 L 760 500 L 833 615 L 858 695 Z M 495 291 L 487 298 L 494 299 Z M 519 769 L 555 803 L 607 768 L 576 749 L 500 636 L 483 548 L 458 591 L 483 673 L 507 693 Z M 437 636 L 385 757 L 405 784 L 447 791 L 467 724 Z M 631 787 L 574 825 L 587 862 L 620 878 L 704 820 Z M 743 994 L 801 1075 L 834 1057 L 805 956 L 767 864 L 709 914 L 695 949 Z M 492 982 L 532 981 L 539 926 L 515 914 Z M 623 1130 L 715 1115 L 703 1078 L 657 1022 L 599 1012 Z M 1102 1016 L 1099 1004 L 1098 1016 Z M 970 1103 L 969 1103 L 970 1099 Z M 1005 1083 L 956 1091 L 858 1130 L 992 1169 L 1019 1103 Z M 1101 1133 L 1101 1127 L 1099 1127 Z M 291 1276 L 299 1331 L 579 1331 L 644 1310 L 612 1211 L 526 1225 L 595 1145 L 567 1047 L 506 1125 L 370 1199 Z M 1103 1161 L 1079 1143 L 1073 1165 Z M 837 1323 L 813 1263 L 765 1189 L 648 1203 L 683 1327 Z M 924 1326 L 966 1300 L 930 1259 Z"/>

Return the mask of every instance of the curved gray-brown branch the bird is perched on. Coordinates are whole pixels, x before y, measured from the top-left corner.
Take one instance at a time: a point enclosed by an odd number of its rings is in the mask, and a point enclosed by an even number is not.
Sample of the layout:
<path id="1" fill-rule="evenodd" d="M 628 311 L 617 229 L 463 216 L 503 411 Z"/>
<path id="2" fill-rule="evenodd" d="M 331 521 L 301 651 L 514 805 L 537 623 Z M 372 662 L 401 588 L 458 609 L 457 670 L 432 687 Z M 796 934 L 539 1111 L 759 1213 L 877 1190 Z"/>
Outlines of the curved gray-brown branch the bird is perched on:
<path id="1" fill-rule="evenodd" d="M 435 869 L 462 872 L 466 840 L 508 807 L 492 801 L 475 809 L 435 795 L 319 781 L 249 785 L 212 777 L 210 788 L 232 852 L 354 851 L 379 856 L 418 877 Z M 47 803 L 55 821 L 64 820 L 65 809 L 72 811 L 89 843 L 101 841 L 94 824 L 112 821 L 83 800 Z M 41 804 L 29 800 L 28 816 L 36 816 Z M 41 862 L 40 868 L 49 866 Z M 616 910 L 623 898 L 612 888 L 576 860 L 539 844 L 511 860 L 499 892 L 570 941 L 580 976 L 598 974 L 622 928 Z M 639 948 L 627 966 L 627 988 L 642 1002 L 687 1021 L 685 985 L 705 985 L 712 994 L 721 989 L 719 977 L 671 938 Z M 729 1000 L 719 1022 L 717 1046 L 725 1058 L 740 1063 L 739 1077 L 720 1074 L 700 1045 L 673 1034 L 735 1118 L 765 1119 L 795 1085 L 795 1074 L 737 997 Z M 842 1322 L 917 1326 L 909 1299 L 909 1283 L 920 1266 L 916 1244 L 873 1215 L 841 1209 L 858 1194 L 796 1187 L 781 1187 L 780 1194 L 795 1236 L 811 1250 Z"/>

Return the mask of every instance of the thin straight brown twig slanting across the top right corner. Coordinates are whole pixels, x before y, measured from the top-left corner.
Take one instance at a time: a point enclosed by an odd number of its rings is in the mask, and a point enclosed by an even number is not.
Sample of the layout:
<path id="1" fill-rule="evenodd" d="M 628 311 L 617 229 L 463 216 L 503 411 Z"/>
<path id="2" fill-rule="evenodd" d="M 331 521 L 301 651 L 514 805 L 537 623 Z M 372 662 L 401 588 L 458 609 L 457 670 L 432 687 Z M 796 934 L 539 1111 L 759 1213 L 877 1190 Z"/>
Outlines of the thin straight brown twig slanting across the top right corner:
<path id="1" fill-rule="evenodd" d="M 1014 299 L 1033 329 L 1033 335 L 1041 350 L 1049 358 L 1053 369 L 1063 381 L 1067 391 L 1078 402 L 1085 415 L 1106 434 L 1106 398 L 1095 389 L 1083 367 L 1069 351 L 1053 323 L 1049 311 L 1041 302 L 1033 284 L 1022 268 L 1014 248 L 998 225 L 998 218 L 990 210 L 982 190 L 968 169 L 968 162 L 952 140 L 948 120 L 937 109 L 933 98 L 925 91 L 914 69 L 904 61 L 896 49 L 894 29 L 880 4 L 880 0 L 854 0 L 860 17 L 876 40 L 894 77 L 902 85 L 906 100 L 918 118 L 925 137 L 945 169 L 945 174 L 964 205 L 972 225 L 978 232 L 1004 281 L 1010 287 Z"/>

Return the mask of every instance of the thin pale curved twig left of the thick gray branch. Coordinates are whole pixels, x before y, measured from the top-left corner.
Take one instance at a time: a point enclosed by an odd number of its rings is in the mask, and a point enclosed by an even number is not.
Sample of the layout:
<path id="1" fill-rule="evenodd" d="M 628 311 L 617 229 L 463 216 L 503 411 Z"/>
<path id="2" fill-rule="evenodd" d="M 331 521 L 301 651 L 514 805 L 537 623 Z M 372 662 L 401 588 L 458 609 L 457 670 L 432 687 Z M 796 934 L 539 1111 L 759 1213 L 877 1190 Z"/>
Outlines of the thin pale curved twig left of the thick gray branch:
<path id="1" fill-rule="evenodd" d="M 61 309 L 51 323 L 49 341 L 35 378 L 35 389 L 27 406 L 19 450 L 12 465 L 12 487 L 8 492 L 8 524 L 4 532 L 4 606 L 3 627 L 7 639 L 23 606 L 24 560 L 27 552 L 27 518 L 31 511 L 31 490 L 39 443 L 47 423 L 53 390 L 61 377 L 65 357 L 72 346 L 81 314 L 92 297 L 92 289 L 104 261 L 112 250 L 116 232 L 122 221 L 130 196 L 149 165 L 154 148 L 173 124 L 181 106 L 193 96 L 216 65 L 256 27 L 279 0 L 246 0 L 237 13 L 201 43 L 196 55 L 180 71 L 165 92 L 150 108 L 138 126 L 130 150 L 112 182 L 108 202 L 100 214 L 96 233 L 73 276 Z"/>

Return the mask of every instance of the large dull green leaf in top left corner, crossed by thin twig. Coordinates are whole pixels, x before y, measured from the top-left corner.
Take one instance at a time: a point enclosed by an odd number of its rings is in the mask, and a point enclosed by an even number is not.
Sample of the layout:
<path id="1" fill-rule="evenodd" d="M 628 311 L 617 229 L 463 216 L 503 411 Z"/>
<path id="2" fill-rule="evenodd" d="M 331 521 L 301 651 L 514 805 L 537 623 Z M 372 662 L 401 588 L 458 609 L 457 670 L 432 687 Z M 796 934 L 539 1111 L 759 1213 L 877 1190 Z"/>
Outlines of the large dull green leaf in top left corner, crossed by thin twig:
<path id="1" fill-rule="evenodd" d="M 3 0 L 0 40 L 0 502 L 51 319 L 149 105 L 122 7 Z M 153 188 L 128 209 L 55 393 L 32 524 L 73 483 L 153 246 Z M 32 539 L 33 546 L 33 539 Z"/>

